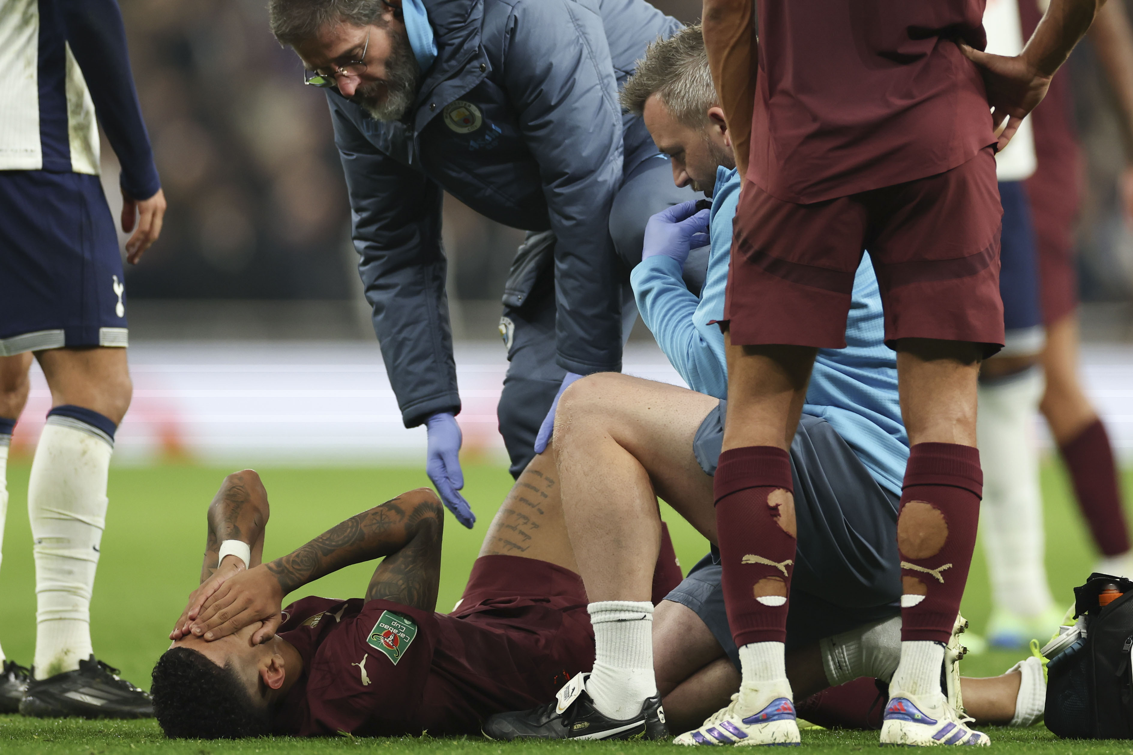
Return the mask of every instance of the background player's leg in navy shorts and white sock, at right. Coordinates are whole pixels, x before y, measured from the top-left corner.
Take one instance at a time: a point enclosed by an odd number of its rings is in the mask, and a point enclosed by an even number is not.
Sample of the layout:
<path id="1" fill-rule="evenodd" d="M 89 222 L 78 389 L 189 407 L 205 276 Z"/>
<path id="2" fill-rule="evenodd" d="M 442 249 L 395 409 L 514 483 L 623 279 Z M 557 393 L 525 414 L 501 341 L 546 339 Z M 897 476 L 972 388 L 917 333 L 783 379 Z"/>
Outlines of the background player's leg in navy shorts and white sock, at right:
<path id="1" fill-rule="evenodd" d="M 991 582 L 988 642 L 1021 649 L 1058 626 L 1043 563 L 1042 492 L 1034 415 L 1042 395 L 1039 353 L 1046 340 L 1038 252 L 1024 185 L 999 183 L 1003 201 L 1003 350 L 983 362 L 979 386 L 983 501 L 980 533 Z"/>

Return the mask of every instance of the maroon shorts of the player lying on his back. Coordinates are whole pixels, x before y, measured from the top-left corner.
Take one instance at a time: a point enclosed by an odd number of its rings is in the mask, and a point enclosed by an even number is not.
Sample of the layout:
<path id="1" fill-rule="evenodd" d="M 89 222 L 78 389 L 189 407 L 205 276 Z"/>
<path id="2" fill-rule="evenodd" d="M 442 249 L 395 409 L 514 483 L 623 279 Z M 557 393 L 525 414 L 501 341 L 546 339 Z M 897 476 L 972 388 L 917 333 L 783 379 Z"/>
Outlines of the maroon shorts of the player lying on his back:
<path id="1" fill-rule="evenodd" d="M 594 629 L 582 578 L 561 566 L 520 556 L 480 556 L 452 616 L 509 636 L 511 655 L 529 663 L 526 685 L 551 700 L 594 666 Z"/>

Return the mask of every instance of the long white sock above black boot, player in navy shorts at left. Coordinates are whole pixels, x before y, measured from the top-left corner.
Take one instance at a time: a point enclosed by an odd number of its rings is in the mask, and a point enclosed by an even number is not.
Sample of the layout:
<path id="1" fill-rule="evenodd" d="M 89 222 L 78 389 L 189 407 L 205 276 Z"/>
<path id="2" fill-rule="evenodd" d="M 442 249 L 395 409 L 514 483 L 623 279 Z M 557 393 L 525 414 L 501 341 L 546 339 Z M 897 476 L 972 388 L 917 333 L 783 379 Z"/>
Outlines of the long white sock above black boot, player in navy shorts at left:
<path id="1" fill-rule="evenodd" d="M 91 653 L 91 590 L 107 516 L 113 441 L 50 415 L 32 462 L 27 513 L 35 543 L 35 678 L 78 668 Z"/>

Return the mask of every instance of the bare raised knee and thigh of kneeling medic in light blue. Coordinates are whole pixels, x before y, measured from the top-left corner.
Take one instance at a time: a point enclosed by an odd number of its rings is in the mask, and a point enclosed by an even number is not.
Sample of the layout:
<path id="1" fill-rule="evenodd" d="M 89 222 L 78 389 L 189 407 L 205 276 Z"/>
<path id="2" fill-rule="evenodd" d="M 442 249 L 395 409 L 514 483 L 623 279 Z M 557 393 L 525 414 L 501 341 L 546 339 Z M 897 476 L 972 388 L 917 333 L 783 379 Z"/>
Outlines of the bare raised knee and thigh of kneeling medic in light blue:
<path id="1" fill-rule="evenodd" d="M 563 393 L 555 438 L 562 453 L 568 440 L 583 448 L 613 440 L 641 464 L 657 496 L 715 542 L 713 479 L 697 463 L 692 441 L 718 403 L 667 383 L 599 372 Z"/>

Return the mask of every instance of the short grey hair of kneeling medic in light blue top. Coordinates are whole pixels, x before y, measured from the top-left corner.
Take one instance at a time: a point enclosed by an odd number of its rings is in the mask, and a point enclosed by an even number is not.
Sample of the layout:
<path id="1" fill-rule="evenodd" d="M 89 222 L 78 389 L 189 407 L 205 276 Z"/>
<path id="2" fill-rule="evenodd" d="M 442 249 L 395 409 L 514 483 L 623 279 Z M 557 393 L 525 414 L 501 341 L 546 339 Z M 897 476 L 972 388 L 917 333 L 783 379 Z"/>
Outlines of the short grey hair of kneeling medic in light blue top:
<path id="1" fill-rule="evenodd" d="M 673 118 L 685 126 L 704 126 L 708 109 L 717 104 L 708 52 L 700 25 L 685 26 L 667 40 L 657 40 L 637 61 L 637 70 L 620 95 L 622 106 L 634 115 L 656 94 Z"/>

